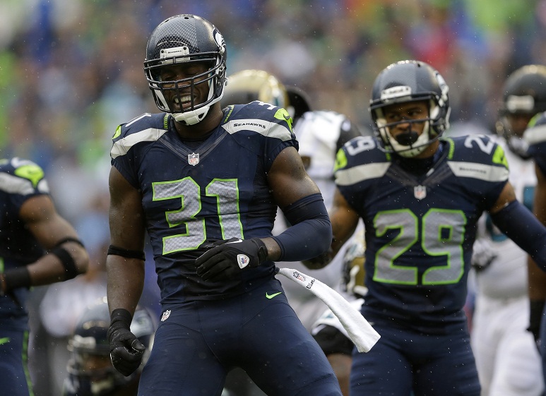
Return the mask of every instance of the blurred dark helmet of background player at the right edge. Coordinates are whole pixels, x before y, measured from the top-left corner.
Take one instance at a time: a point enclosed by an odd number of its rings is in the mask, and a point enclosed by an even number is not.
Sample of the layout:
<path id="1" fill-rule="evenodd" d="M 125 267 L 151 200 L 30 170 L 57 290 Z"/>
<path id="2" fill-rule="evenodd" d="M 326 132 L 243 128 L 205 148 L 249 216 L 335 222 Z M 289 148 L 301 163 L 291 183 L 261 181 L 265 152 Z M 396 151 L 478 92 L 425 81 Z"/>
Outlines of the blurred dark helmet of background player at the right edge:
<path id="1" fill-rule="evenodd" d="M 546 111 L 546 66 L 526 65 L 506 79 L 502 89 L 502 105 L 495 128 L 512 152 L 529 158 L 527 144 L 521 139 L 528 121 Z M 517 121 L 521 117 L 521 121 Z M 512 121 L 511 121 L 512 120 Z"/>

